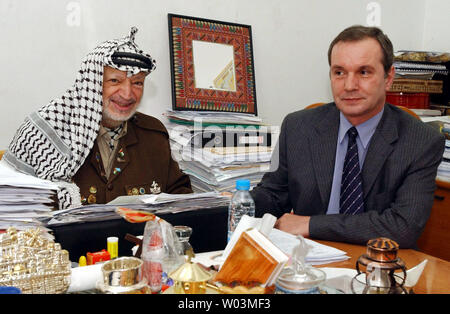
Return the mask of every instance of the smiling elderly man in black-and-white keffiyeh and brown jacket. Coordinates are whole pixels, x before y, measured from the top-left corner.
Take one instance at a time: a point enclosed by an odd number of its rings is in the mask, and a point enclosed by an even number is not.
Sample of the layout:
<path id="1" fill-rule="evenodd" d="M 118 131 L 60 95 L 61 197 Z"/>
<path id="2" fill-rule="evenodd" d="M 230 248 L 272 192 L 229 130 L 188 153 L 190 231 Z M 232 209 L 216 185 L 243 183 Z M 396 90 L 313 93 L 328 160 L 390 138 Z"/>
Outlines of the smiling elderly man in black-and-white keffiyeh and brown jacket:
<path id="1" fill-rule="evenodd" d="M 136 32 L 89 53 L 72 88 L 31 113 L 3 156 L 17 171 L 57 182 L 60 209 L 120 195 L 192 192 L 164 125 L 136 112 L 156 67 L 134 43 Z"/>

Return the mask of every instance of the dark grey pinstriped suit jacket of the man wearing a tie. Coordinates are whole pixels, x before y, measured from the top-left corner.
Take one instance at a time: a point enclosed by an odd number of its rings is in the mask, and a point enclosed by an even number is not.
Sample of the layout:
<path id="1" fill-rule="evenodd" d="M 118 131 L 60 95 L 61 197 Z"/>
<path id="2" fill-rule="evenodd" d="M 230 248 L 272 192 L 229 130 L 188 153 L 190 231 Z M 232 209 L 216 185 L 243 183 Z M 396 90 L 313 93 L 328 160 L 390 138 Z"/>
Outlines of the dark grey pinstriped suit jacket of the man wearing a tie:
<path id="1" fill-rule="evenodd" d="M 277 217 L 291 209 L 312 216 L 311 238 L 366 244 L 388 237 L 415 247 L 430 215 L 435 177 L 445 147 L 442 134 L 403 110 L 385 105 L 364 161 L 365 212 L 326 215 L 339 128 L 334 103 L 289 114 L 272 163 L 252 191 L 256 215 Z M 278 162 L 276 160 L 279 157 Z"/>

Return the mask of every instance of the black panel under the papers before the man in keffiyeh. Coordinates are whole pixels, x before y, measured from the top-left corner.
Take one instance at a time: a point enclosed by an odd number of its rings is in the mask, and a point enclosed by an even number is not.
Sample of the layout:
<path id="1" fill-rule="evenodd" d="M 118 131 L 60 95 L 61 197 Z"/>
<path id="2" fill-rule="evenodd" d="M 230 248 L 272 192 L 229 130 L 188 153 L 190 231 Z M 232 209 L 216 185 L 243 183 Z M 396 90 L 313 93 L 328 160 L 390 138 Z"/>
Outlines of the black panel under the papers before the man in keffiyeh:
<path id="1" fill-rule="evenodd" d="M 192 228 L 190 243 L 194 252 L 223 250 L 227 245 L 228 207 L 206 208 L 176 214 L 161 214 L 160 218 L 175 225 Z M 133 243 L 125 240 L 127 233 L 143 235 L 145 223 L 129 223 L 125 219 L 73 223 L 50 227 L 55 242 L 69 251 L 72 262 L 78 262 L 81 255 L 106 249 L 106 238 L 119 238 L 119 255 L 130 256 Z"/>

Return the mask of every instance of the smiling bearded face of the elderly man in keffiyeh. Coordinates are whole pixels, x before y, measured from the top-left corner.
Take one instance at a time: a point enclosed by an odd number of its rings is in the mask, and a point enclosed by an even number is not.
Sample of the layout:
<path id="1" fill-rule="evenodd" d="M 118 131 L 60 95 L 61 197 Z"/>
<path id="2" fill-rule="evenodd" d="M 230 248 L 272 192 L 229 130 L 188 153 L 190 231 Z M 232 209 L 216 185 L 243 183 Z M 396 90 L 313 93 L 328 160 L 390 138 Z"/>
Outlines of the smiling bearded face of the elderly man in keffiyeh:
<path id="1" fill-rule="evenodd" d="M 114 128 L 136 112 L 144 92 L 146 73 L 131 77 L 127 73 L 105 67 L 103 73 L 103 126 Z"/>

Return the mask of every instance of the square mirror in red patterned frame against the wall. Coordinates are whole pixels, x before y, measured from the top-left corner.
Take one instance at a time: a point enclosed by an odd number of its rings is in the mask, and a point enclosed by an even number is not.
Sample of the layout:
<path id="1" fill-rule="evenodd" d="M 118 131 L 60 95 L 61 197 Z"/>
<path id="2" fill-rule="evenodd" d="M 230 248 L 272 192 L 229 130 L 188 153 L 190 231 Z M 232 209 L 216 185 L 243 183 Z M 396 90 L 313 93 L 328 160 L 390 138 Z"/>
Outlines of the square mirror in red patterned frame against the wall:
<path id="1" fill-rule="evenodd" d="M 172 109 L 257 115 L 251 26 L 168 18 Z"/>

